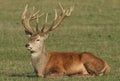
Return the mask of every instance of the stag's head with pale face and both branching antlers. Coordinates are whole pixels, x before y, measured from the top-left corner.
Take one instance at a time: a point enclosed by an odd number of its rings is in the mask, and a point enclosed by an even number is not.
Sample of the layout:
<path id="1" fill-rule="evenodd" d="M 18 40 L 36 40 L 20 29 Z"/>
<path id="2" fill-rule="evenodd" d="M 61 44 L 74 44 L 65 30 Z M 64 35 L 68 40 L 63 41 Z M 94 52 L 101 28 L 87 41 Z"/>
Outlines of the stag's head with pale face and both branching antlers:
<path id="1" fill-rule="evenodd" d="M 29 36 L 29 42 L 26 44 L 26 48 L 29 49 L 31 52 L 38 51 L 40 48 L 43 48 L 44 41 L 48 36 L 48 33 L 54 29 L 56 29 L 61 22 L 68 16 L 70 16 L 71 12 L 73 11 L 73 7 L 70 7 L 67 10 L 64 10 L 62 5 L 59 4 L 61 8 L 61 14 L 57 15 L 57 10 L 55 9 L 55 17 L 50 27 L 46 27 L 48 13 L 46 14 L 45 22 L 41 30 L 38 28 L 39 18 L 43 15 L 38 15 L 39 11 L 35 12 L 35 8 L 31 10 L 30 16 L 27 17 L 28 5 L 25 6 L 25 9 L 22 14 L 22 24 L 25 28 L 26 35 Z M 36 22 L 36 32 L 30 26 L 30 21 L 35 20 Z"/>

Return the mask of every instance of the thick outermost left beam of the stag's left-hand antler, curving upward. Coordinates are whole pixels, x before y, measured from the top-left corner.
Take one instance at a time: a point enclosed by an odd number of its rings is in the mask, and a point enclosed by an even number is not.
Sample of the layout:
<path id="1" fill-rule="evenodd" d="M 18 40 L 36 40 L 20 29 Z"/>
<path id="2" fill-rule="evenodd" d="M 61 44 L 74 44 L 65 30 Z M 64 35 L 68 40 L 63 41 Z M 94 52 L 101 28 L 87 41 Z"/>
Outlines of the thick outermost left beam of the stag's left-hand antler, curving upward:
<path id="1" fill-rule="evenodd" d="M 26 18 L 27 9 L 28 9 L 28 5 L 25 6 L 25 9 L 24 9 L 23 14 L 22 14 L 22 24 L 23 24 L 23 26 L 25 28 L 26 33 L 33 34 L 34 31 L 33 31 L 33 29 L 31 28 L 31 26 L 29 24 L 29 20 Z"/>

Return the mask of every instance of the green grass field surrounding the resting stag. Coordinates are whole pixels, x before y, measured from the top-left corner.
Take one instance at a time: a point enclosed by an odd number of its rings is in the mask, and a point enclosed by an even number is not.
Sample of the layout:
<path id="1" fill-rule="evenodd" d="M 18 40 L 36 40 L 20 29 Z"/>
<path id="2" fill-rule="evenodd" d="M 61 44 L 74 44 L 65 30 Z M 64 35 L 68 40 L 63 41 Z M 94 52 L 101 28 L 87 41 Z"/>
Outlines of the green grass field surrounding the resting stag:
<path id="1" fill-rule="evenodd" d="M 49 13 L 58 2 L 75 7 L 71 16 L 46 40 L 47 51 L 89 51 L 105 59 L 111 72 L 101 77 L 38 78 L 24 45 L 21 25 L 25 4 Z M 41 19 L 40 25 L 42 25 Z M 48 25 L 50 24 L 48 23 Z M 120 81 L 120 0 L 0 0 L 0 81 Z"/>

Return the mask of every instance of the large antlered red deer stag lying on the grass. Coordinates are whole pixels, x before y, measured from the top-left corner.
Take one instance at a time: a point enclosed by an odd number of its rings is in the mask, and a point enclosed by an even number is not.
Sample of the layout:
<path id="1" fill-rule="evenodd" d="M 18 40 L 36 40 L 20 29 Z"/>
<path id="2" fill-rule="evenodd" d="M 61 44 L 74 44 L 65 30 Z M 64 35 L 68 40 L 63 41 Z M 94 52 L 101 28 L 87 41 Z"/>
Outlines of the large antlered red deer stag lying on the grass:
<path id="1" fill-rule="evenodd" d="M 64 76 L 84 76 L 94 75 L 100 76 L 110 71 L 109 65 L 101 58 L 90 52 L 46 52 L 45 40 L 48 38 L 48 33 L 55 30 L 63 22 L 63 20 L 71 15 L 74 8 L 64 9 L 59 4 L 61 13 L 55 9 L 55 17 L 50 27 L 46 28 L 48 22 L 48 13 L 46 13 L 45 21 L 41 29 L 38 28 L 39 18 L 44 13 L 39 15 L 39 11 L 35 12 L 35 8 L 30 11 L 30 16 L 27 16 L 28 5 L 25 6 L 22 13 L 21 22 L 28 35 L 28 43 L 25 47 L 31 53 L 31 63 L 36 73 L 36 76 L 41 78 L 57 78 Z M 34 20 L 35 29 L 30 25 L 30 21 Z"/>

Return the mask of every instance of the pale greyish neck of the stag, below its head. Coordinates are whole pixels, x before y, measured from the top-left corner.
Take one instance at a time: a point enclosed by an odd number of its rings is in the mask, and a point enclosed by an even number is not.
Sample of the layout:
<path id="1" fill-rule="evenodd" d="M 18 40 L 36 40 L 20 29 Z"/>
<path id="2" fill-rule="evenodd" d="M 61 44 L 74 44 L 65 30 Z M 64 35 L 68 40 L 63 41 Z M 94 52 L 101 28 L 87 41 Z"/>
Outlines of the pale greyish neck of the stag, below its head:
<path id="1" fill-rule="evenodd" d="M 45 65 L 47 63 L 47 59 L 48 58 L 47 58 L 47 55 L 45 52 L 45 45 L 43 45 L 39 49 L 39 51 L 32 53 L 31 61 L 32 61 L 32 65 L 33 65 L 33 68 L 35 69 L 35 71 L 43 74 Z"/>

